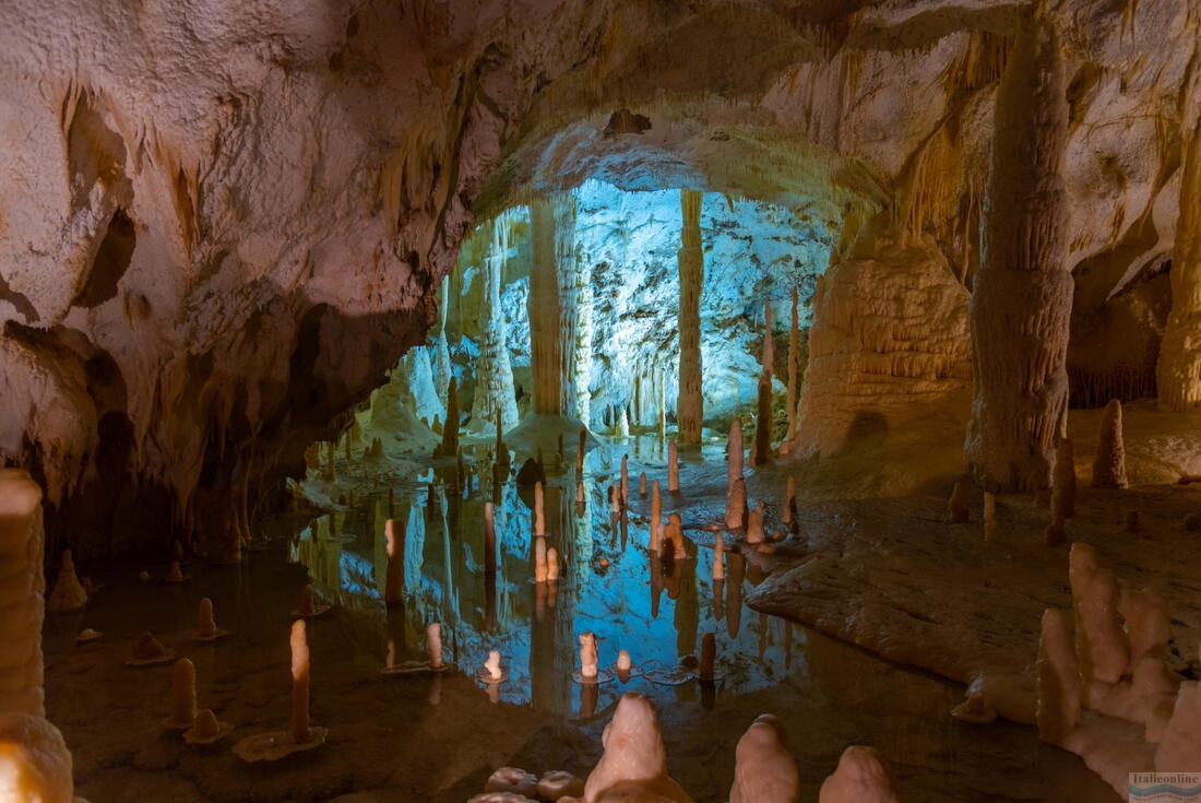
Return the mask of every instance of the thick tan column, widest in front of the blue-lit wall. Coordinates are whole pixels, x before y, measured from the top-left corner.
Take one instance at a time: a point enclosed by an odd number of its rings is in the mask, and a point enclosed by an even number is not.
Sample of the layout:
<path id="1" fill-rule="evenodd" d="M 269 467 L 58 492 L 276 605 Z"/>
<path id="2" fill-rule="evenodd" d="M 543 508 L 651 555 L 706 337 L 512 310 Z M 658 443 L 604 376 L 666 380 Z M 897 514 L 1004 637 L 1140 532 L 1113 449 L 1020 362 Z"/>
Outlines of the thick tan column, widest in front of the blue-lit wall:
<path id="1" fill-rule="evenodd" d="M 576 296 L 575 197 L 560 192 L 530 204 L 533 267 L 530 272 L 530 369 L 533 411 L 575 416 Z"/>

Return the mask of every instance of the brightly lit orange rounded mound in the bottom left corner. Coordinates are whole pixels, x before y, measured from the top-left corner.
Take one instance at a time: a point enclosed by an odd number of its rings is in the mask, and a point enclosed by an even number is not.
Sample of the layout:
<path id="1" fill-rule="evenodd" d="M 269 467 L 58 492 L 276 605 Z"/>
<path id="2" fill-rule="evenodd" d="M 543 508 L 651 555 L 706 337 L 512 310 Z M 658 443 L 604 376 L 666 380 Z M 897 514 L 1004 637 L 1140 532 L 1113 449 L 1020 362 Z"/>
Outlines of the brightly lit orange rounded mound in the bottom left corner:
<path id="1" fill-rule="evenodd" d="M 0 714 L 0 798 L 13 803 L 72 803 L 71 751 L 54 725 L 36 714 Z"/>

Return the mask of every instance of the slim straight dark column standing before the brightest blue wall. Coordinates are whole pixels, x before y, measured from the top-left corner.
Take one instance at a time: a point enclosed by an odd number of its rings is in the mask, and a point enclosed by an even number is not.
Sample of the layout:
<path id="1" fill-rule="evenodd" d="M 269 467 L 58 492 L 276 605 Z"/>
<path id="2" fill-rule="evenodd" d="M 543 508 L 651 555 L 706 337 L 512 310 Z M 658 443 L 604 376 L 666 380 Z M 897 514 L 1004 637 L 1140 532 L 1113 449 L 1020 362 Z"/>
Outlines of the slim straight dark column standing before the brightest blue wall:
<path id="1" fill-rule="evenodd" d="M 700 246 L 700 202 L 698 190 L 680 190 L 683 227 L 680 231 L 680 392 L 676 422 L 681 444 L 700 442 L 704 402 L 700 394 L 700 287 L 705 281 L 705 255 Z"/>

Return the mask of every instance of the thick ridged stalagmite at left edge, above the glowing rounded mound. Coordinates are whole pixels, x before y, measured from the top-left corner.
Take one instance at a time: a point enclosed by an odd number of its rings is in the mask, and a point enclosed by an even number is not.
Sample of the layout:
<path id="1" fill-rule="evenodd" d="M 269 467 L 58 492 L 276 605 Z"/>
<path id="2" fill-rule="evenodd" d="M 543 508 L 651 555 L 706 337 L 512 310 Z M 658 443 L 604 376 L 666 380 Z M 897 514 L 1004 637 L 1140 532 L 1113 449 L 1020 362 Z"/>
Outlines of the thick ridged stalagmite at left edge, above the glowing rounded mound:
<path id="1" fill-rule="evenodd" d="M 0 712 L 46 713 L 43 542 L 42 489 L 19 469 L 0 469 Z M 67 769 L 70 785 L 70 754 Z"/>

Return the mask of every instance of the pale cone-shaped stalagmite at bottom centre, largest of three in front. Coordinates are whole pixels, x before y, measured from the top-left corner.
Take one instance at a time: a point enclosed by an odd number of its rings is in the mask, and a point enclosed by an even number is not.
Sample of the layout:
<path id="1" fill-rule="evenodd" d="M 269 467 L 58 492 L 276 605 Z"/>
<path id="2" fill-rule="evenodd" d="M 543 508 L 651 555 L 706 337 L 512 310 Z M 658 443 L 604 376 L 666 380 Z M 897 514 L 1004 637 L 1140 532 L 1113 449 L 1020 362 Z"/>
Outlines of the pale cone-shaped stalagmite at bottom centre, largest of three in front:
<path id="1" fill-rule="evenodd" d="M 692 803 L 680 785 L 668 778 L 667 750 L 650 700 L 625 694 L 600 740 L 604 754 L 584 784 L 582 803 Z"/>

